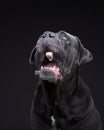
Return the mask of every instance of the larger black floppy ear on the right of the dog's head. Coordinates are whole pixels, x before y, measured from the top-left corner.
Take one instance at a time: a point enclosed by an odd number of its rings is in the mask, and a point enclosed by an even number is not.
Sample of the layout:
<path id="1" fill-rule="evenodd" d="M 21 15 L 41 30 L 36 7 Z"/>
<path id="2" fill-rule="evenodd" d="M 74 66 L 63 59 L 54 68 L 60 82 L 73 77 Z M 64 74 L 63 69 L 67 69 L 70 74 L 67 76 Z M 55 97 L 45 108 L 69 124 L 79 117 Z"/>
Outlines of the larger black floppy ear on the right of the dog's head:
<path id="1" fill-rule="evenodd" d="M 85 64 L 90 62 L 93 59 L 93 56 L 89 50 L 87 50 L 78 38 L 79 42 L 79 64 Z"/>

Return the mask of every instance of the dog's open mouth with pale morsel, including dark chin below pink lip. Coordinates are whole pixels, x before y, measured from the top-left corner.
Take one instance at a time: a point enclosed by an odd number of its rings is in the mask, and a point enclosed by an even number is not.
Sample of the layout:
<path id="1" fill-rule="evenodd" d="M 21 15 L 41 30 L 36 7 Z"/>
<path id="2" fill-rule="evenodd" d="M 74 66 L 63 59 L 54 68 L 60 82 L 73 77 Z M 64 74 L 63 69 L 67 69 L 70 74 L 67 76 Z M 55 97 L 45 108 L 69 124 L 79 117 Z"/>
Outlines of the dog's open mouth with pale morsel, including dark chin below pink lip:
<path id="1" fill-rule="evenodd" d="M 45 57 L 39 70 L 35 71 L 35 75 L 39 76 L 42 80 L 57 82 L 62 80 L 60 66 L 54 60 L 54 54 L 51 51 L 45 52 Z"/>

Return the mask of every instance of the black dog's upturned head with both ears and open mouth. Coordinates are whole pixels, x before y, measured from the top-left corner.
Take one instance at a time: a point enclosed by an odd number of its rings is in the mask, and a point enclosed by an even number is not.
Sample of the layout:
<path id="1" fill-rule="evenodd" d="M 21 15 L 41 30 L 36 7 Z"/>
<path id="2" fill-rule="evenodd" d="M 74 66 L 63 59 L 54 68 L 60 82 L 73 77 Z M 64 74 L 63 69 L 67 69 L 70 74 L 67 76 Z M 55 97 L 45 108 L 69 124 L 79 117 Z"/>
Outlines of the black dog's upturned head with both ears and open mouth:
<path id="1" fill-rule="evenodd" d="M 65 31 L 46 31 L 33 48 L 29 63 L 36 65 L 35 75 L 41 80 L 56 84 L 92 58 L 92 54 L 84 48 L 78 37 Z"/>

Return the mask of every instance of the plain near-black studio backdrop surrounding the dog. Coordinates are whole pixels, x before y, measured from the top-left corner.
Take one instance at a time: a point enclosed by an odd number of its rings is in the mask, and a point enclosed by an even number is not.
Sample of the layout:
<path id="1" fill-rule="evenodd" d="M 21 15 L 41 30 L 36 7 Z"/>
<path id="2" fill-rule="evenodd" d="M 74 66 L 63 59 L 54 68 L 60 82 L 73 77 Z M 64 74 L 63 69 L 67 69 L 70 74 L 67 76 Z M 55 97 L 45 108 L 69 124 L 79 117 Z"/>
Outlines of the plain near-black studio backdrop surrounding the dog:
<path id="1" fill-rule="evenodd" d="M 36 85 L 30 52 L 46 30 L 80 38 L 94 59 L 81 67 L 104 121 L 104 9 L 96 1 L 4 2 L 0 4 L 0 130 L 31 130 Z"/>

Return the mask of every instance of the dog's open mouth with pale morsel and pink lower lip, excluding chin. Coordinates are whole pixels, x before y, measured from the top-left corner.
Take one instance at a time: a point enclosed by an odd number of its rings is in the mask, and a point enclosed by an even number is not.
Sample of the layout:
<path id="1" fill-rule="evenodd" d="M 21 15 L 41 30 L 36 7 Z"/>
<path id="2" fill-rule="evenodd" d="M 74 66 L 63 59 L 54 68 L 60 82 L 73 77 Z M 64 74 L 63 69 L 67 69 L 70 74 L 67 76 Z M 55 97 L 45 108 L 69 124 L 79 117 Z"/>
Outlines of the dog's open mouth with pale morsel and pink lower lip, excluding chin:
<path id="1" fill-rule="evenodd" d="M 62 80 L 60 73 L 60 67 L 58 63 L 54 61 L 53 52 L 46 52 L 43 63 L 39 70 L 35 71 L 35 75 L 39 76 L 42 72 L 48 72 L 53 74 L 57 80 Z"/>

